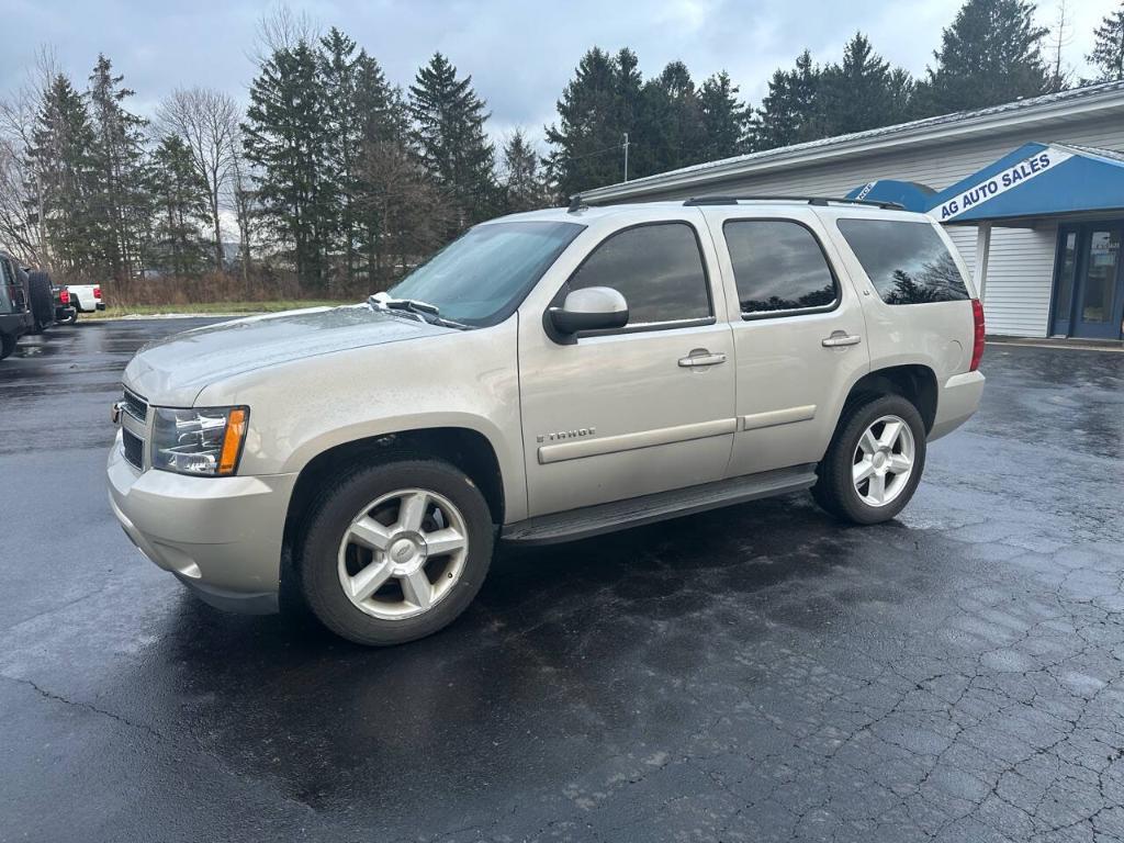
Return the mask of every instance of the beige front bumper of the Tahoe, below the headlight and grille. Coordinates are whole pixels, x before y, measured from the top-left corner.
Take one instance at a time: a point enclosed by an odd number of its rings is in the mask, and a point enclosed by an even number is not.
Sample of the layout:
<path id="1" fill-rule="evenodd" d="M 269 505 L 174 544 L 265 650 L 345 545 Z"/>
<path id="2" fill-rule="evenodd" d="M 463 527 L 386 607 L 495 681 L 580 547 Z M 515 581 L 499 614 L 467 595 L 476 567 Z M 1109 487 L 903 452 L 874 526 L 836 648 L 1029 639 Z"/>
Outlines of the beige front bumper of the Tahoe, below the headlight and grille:
<path id="1" fill-rule="evenodd" d="M 114 515 L 156 565 L 218 608 L 277 611 L 281 541 L 297 474 L 142 472 L 125 461 L 120 432 L 106 471 Z"/>

